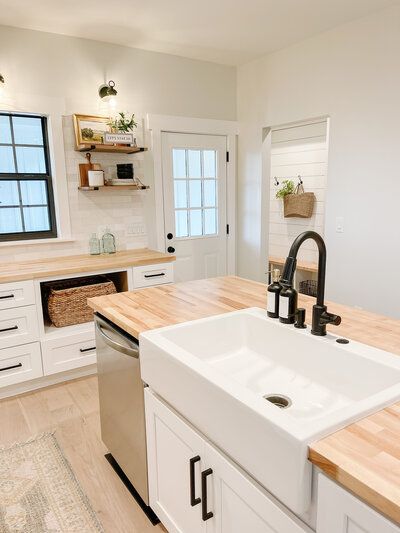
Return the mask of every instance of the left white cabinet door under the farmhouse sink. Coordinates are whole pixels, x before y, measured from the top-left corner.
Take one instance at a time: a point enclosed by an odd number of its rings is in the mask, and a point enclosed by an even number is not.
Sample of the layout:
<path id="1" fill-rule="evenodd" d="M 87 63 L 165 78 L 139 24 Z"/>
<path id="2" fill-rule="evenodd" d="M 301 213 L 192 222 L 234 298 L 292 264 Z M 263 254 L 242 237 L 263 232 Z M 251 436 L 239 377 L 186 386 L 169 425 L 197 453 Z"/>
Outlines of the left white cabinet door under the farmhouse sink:
<path id="1" fill-rule="evenodd" d="M 198 501 L 200 472 L 206 468 L 204 441 L 148 388 L 145 408 L 150 507 L 169 533 L 205 532 L 201 503 L 191 505 L 191 496 Z"/>

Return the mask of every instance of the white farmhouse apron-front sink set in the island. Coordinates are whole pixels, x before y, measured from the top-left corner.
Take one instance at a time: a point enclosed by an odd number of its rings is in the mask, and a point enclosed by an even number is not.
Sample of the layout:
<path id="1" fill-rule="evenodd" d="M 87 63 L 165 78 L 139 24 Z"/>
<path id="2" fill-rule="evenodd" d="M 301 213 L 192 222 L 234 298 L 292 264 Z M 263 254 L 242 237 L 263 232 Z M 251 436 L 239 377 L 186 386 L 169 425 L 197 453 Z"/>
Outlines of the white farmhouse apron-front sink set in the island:
<path id="1" fill-rule="evenodd" d="M 399 357 L 337 339 L 235 311 L 141 334 L 142 379 L 302 514 L 308 445 L 400 399 Z"/>

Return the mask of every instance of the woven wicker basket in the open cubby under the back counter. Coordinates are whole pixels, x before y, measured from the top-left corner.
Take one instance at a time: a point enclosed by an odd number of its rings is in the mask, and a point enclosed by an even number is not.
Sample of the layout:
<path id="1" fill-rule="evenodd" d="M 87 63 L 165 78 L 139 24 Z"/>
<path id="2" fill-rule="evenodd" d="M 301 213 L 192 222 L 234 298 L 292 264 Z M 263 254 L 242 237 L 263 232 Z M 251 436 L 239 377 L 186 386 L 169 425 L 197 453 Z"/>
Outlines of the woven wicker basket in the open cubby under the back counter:
<path id="1" fill-rule="evenodd" d="M 57 328 L 90 322 L 93 309 L 87 299 L 117 292 L 114 283 L 105 276 L 46 283 L 44 289 L 47 312 Z"/>

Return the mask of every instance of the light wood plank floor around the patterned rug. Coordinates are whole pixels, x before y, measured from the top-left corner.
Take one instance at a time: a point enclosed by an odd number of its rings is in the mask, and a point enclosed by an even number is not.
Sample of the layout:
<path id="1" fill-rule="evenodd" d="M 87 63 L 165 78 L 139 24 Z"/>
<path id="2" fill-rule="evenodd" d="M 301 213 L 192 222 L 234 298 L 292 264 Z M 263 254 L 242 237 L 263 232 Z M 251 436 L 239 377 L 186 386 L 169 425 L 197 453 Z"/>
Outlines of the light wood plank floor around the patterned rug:
<path id="1" fill-rule="evenodd" d="M 97 377 L 0 401 L 0 446 L 44 431 L 56 437 L 107 533 L 161 533 L 114 473 L 100 438 Z"/>

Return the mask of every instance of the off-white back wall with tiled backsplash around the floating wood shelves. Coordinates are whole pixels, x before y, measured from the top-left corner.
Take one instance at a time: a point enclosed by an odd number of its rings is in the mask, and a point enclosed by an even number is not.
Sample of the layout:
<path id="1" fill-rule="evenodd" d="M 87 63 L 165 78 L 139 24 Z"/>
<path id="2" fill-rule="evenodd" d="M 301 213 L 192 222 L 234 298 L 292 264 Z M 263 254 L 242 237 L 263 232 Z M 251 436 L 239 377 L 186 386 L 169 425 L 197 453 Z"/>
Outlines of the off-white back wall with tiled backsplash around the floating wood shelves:
<path id="1" fill-rule="evenodd" d="M 0 71 L 8 91 L 17 95 L 19 110 L 29 111 L 24 102 L 36 98 L 43 107 L 56 101 L 60 115 L 67 117 L 72 113 L 103 114 L 99 112 L 98 88 L 113 79 L 118 110 L 134 112 L 139 123 L 147 113 L 236 118 L 236 69 L 225 65 L 0 26 Z M 57 180 L 65 182 L 68 175 L 73 242 L 0 247 L 0 259 L 85 253 L 90 232 L 105 225 L 117 234 L 123 248 L 154 245 L 154 189 L 128 195 L 78 192 L 78 163 L 85 159 L 72 150 L 70 118 L 64 120 L 64 135 L 67 160 L 60 167 L 66 170 L 58 172 Z M 147 144 L 150 142 L 147 136 Z M 122 159 L 136 161 L 143 181 L 153 184 L 151 151 Z M 104 165 L 117 162 L 109 155 L 96 156 L 96 161 Z M 130 222 L 143 224 L 147 235 L 127 236 L 123 226 Z"/>

